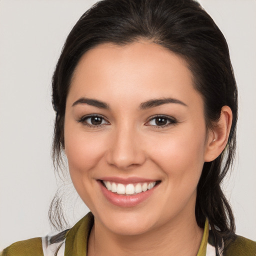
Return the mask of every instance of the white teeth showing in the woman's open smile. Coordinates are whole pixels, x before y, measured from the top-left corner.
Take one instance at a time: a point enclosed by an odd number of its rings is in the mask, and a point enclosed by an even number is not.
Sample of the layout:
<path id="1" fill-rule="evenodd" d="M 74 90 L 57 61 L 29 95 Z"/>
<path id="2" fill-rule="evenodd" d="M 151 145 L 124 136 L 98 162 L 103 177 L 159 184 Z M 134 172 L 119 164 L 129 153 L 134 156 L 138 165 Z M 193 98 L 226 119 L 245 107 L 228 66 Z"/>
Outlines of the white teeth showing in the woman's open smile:
<path id="1" fill-rule="evenodd" d="M 160 183 L 160 180 L 151 182 L 138 182 L 130 184 L 116 183 L 112 181 L 100 180 L 107 190 L 121 195 L 135 195 L 146 190 L 150 190 L 155 185 Z"/>

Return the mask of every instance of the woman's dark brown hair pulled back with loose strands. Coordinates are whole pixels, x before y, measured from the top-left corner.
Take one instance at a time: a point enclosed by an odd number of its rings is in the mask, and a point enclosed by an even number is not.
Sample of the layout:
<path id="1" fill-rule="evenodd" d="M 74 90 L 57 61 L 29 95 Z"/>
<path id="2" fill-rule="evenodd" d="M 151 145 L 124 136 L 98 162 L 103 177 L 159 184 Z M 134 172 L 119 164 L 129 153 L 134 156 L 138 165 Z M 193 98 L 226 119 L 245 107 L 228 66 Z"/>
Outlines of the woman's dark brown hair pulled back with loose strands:
<path id="1" fill-rule="evenodd" d="M 100 43 L 124 45 L 139 39 L 159 44 L 187 61 L 194 87 L 204 100 L 207 128 L 218 120 L 222 106 L 232 110 L 227 145 L 216 159 L 204 163 L 195 205 L 197 224 L 203 227 L 207 217 L 212 229 L 225 237 L 235 229 L 232 210 L 220 185 L 235 155 L 237 88 L 226 40 L 194 0 L 102 0 L 80 17 L 66 38 L 52 77 L 52 104 L 56 111 L 52 156 L 56 169 L 61 166 L 65 103 L 77 62 Z M 57 196 L 49 216 L 53 225 L 62 227 Z"/>

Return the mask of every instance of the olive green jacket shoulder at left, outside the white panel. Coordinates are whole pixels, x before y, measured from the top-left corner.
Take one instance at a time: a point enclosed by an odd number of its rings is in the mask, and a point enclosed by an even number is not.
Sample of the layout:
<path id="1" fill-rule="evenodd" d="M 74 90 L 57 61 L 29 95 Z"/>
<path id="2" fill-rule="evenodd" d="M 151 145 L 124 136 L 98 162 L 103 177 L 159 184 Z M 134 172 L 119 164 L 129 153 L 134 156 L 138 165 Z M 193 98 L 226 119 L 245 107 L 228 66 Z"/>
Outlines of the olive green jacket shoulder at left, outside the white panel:
<path id="1" fill-rule="evenodd" d="M 41 237 L 14 242 L 0 256 L 43 256 Z"/>

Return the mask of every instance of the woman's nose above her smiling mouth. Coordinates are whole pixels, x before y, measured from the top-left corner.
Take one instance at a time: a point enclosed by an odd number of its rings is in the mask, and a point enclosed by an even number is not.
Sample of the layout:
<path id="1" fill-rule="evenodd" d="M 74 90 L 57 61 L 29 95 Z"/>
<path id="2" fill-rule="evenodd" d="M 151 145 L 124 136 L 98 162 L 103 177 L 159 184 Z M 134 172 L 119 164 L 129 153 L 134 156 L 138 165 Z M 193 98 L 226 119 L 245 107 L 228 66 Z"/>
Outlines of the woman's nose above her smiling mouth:
<path id="1" fill-rule="evenodd" d="M 137 132 L 130 127 L 119 127 L 113 131 L 106 160 L 118 169 L 139 166 L 145 161 L 143 143 Z"/>

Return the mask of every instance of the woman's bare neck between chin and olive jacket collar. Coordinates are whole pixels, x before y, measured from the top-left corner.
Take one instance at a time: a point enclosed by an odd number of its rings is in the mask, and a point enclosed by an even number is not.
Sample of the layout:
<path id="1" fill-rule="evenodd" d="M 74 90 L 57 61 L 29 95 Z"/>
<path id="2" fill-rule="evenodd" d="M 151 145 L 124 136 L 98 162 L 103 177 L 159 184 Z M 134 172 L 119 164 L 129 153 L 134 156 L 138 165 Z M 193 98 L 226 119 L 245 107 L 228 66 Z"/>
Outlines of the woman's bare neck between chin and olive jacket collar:
<path id="1" fill-rule="evenodd" d="M 143 234 L 119 235 L 105 229 L 95 220 L 89 242 L 88 256 L 162 255 L 195 256 L 203 234 L 195 216 L 168 223 Z"/>

